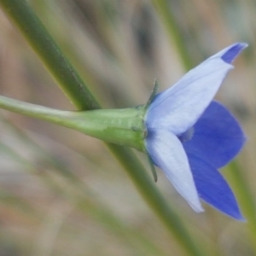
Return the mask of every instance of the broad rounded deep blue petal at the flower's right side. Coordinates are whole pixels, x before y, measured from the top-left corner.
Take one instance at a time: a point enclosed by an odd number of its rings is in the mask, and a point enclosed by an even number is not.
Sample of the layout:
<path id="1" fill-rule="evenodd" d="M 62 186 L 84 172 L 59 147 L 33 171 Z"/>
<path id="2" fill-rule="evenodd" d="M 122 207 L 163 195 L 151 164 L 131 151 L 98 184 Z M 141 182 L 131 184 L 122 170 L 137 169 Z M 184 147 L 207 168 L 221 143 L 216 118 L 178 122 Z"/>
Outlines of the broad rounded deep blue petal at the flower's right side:
<path id="1" fill-rule="evenodd" d="M 236 119 L 218 102 L 212 102 L 198 119 L 191 137 L 183 143 L 185 151 L 216 168 L 232 160 L 246 141 Z"/>

